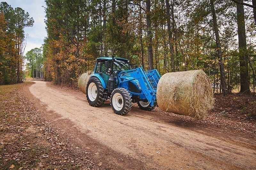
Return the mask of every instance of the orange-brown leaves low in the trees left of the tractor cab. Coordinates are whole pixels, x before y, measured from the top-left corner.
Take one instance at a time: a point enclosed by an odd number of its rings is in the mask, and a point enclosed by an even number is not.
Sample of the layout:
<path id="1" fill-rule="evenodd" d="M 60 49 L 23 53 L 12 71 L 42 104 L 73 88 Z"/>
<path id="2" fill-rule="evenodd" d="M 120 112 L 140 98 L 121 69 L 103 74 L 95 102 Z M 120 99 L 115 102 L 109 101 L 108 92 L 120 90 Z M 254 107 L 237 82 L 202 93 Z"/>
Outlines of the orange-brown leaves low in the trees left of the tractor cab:
<path id="1" fill-rule="evenodd" d="M 84 52 L 86 42 L 78 43 L 78 48 L 68 42 L 62 35 L 58 40 L 49 40 L 44 67 L 47 76 L 51 77 L 55 84 L 75 83 L 77 76 L 85 70 L 88 61 L 94 61 L 94 57 Z"/>

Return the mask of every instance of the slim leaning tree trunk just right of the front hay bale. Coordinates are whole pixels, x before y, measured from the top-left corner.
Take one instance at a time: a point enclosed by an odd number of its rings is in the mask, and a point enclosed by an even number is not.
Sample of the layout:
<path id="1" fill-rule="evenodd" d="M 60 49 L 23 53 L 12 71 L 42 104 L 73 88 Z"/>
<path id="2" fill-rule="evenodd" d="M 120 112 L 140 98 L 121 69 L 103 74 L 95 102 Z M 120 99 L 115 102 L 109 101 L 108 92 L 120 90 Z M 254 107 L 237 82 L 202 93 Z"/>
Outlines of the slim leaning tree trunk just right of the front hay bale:
<path id="1" fill-rule="evenodd" d="M 220 84 L 221 84 L 222 92 L 224 96 L 227 96 L 228 90 L 227 90 L 227 84 L 226 84 L 226 75 L 224 71 L 224 63 L 222 60 L 219 29 L 217 25 L 217 18 L 216 18 L 213 0 L 210 0 L 210 4 L 211 4 L 211 11 L 212 11 L 212 19 L 213 19 L 213 29 L 214 29 L 215 38 L 216 38 L 216 48 L 217 48 L 216 51 L 217 51 L 217 56 L 219 61 L 218 63 L 220 65 Z"/>

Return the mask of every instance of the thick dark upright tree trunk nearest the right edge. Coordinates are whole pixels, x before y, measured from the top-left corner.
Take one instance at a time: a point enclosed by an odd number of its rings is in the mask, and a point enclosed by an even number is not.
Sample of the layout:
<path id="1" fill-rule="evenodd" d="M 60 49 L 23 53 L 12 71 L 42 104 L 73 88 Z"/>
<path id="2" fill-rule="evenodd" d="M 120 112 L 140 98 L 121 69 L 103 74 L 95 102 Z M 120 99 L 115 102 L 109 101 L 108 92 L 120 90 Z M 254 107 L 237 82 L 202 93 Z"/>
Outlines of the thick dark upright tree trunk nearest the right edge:
<path id="1" fill-rule="evenodd" d="M 243 0 L 239 0 L 243 3 Z M 237 12 L 237 32 L 239 47 L 239 65 L 240 65 L 240 92 L 250 93 L 248 54 L 246 49 L 246 34 L 244 23 L 244 5 L 236 4 Z"/>

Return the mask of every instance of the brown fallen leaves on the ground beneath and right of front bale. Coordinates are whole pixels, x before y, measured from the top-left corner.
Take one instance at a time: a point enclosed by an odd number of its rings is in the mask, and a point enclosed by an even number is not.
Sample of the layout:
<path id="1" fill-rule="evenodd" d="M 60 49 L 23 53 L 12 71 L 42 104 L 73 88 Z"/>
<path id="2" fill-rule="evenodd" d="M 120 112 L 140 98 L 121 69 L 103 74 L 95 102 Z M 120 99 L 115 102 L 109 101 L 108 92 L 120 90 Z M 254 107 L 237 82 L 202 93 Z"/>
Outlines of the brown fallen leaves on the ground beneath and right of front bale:
<path id="1" fill-rule="evenodd" d="M 220 131 L 240 133 L 243 136 L 256 137 L 256 95 L 231 93 L 226 97 L 223 94 L 214 94 L 215 106 L 201 120 L 194 120 L 188 116 L 167 113 L 156 107 L 154 115 L 160 115 L 170 120 L 194 124 L 196 127 L 215 128 Z M 133 104 L 133 107 L 138 107 Z M 253 136 L 252 136 L 253 135 Z"/>

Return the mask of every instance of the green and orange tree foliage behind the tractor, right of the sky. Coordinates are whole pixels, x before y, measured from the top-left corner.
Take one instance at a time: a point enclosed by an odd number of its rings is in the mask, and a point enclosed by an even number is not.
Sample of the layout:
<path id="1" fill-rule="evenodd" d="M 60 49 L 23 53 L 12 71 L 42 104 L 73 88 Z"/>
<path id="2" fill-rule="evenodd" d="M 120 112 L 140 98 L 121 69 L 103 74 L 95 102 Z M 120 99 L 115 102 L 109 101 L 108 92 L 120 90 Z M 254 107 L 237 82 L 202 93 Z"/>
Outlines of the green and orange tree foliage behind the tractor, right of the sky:
<path id="1" fill-rule="evenodd" d="M 215 27 L 212 9 L 217 15 Z M 228 92 L 239 87 L 240 54 L 234 48 L 238 44 L 237 18 L 231 15 L 236 13 L 232 1 L 211 1 L 210 5 L 210 1 L 180 0 L 46 0 L 45 11 L 45 78 L 55 84 L 77 86 L 77 78 L 92 70 L 97 57 L 114 55 L 141 64 L 146 70 L 153 65 L 161 75 L 204 70 L 215 92 L 221 92 L 220 81 L 225 78 Z M 214 36 L 216 26 L 220 30 L 221 64 Z M 247 26 L 249 36 L 255 38 L 255 26 Z M 255 43 L 248 47 L 249 81 L 254 86 Z"/>

